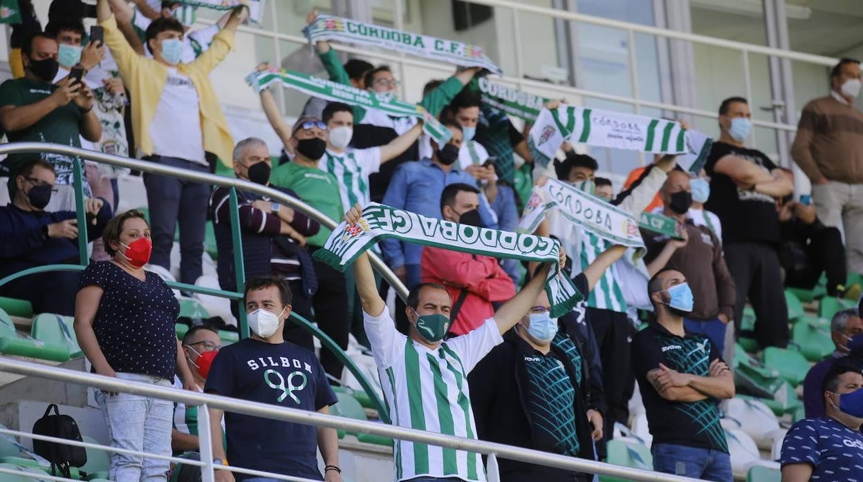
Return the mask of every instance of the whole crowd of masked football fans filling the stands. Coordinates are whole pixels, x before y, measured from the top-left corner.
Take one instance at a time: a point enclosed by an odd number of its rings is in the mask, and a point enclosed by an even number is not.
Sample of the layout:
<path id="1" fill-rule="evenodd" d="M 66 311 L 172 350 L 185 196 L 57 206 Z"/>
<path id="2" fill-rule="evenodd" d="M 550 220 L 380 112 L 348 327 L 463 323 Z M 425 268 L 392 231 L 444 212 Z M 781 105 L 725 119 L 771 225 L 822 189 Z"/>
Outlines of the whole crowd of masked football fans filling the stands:
<path id="1" fill-rule="evenodd" d="M 668 216 L 680 236 L 643 228 L 646 255 L 632 260 L 625 247 L 572 232 L 549 213 L 536 234 L 557 237 L 572 256 L 562 254 L 560 266 L 387 239 L 375 249 L 410 290 L 390 312 L 389 287 L 375 278 L 365 254 L 344 273 L 314 260 L 331 229 L 274 199 L 236 191 L 239 212 L 232 213 L 227 188 L 144 173 L 148 211 L 117 213 L 116 178 L 127 173 L 85 162 L 83 227 L 73 190 L 81 160 L 11 154 L 3 160 L 11 203 L 0 208 L 0 278 L 75 262 L 84 229 L 87 241 L 97 242 L 84 272 L 29 275 L 0 286 L 0 296 L 27 299 L 37 312 L 74 316 L 80 346 L 98 374 L 329 413 L 343 363 L 327 350 L 315 356 L 311 335 L 288 320 L 295 312 L 343 349 L 350 334 L 369 347 L 389 415 L 400 426 L 602 460 L 615 423 L 628 424 L 637 381 L 654 469 L 730 480 L 718 402 L 735 394 L 727 362 L 734 340 L 747 335 L 761 348 L 786 347 L 785 286 L 811 289 L 823 275 L 828 295 L 851 297 L 847 273 L 863 273 L 856 60 L 842 59 L 830 72 L 828 95 L 803 109 L 791 155 L 812 183 L 811 197 L 795 199 L 792 172 L 746 147 L 753 123 L 743 97 L 719 106 L 719 135 L 702 172 L 683 171 L 673 155 L 657 156 L 615 193 L 608 178 L 596 177 L 596 160 L 569 145 L 553 169 L 530 178 L 526 130 L 482 102 L 478 68 L 459 68 L 426 86 L 420 105 L 450 130 L 444 145 L 424 135 L 414 117 L 315 98 L 292 113 L 298 121 L 289 126 L 263 90 L 262 109 L 283 144 L 273 158 L 260 139 L 231 138 L 209 78 L 234 47 L 247 9 L 191 30 L 188 5 L 133 4 L 98 0 L 89 11 L 83 3 L 54 1 L 44 31 L 36 28 L 32 8 L 24 9 L 18 27 L 33 31 L 19 30 L 13 42 L 21 49 L 22 76 L 0 85 L 0 128 L 8 141 L 135 155 L 194 172 L 224 163 L 236 178 L 348 222 L 359 221 L 358 206 L 377 201 L 514 231 L 529 195 L 516 179 L 543 185 L 551 177 L 633 216 Z M 99 26 L 89 33 L 88 15 Z M 359 59 L 343 64 L 325 41 L 315 51 L 331 80 L 398 95 L 389 67 Z M 235 215 L 241 246 L 231 235 Z M 232 312 L 245 311 L 252 332 L 226 347 L 205 325 L 178 341 L 178 300 L 145 269 L 170 269 L 179 228 L 179 280 L 194 284 L 202 274 L 208 219 L 219 284 L 243 291 Z M 236 285 L 236 249 L 243 253 L 245 286 Z M 570 276 L 585 297 L 559 318 L 550 316 L 542 290 L 551 269 Z M 741 331 L 747 303 L 755 313 L 753 333 Z M 650 318 L 640 331 L 639 313 Z M 863 471 L 863 375 L 860 361 L 846 356 L 863 345 L 863 320 L 858 310 L 844 310 L 830 329 L 836 352 L 809 372 L 803 389 L 809 418 L 791 429 L 783 448 L 788 480 L 823 478 L 837 457 L 850 456 Z M 105 392 L 98 403 L 117 448 L 163 455 L 198 448 L 196 407 Z M 333 429 L 214 409 L 210 416 L 217 463 L 321 479 L 320 449 L 323 478 L 341 479 Z M 831 437 L 836 441 L 828 443 Z M 484 479 L 482 458 L 460 450 L 396 441 L 394 460 L 398 480 Z M 504 480 L 591 479 L 509 460 L 500 469 Z M 111 456 L 111 479 L 164 479 L 169 470 L 163 460 Z M 266 480 L 217 472 L 219 480 L 234 478 Z"/>

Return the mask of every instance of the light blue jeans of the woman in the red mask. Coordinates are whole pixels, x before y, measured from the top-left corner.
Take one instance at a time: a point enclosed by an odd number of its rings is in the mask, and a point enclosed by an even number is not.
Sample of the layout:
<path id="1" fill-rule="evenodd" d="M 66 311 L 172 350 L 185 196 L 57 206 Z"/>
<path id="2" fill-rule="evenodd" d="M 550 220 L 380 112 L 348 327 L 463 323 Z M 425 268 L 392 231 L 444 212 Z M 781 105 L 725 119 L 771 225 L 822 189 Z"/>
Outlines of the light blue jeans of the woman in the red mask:
<path id="1" fill-rule="evenodd" d="M 117 373 L 118 379 L 173 386 L 173 380 L 160 379 L 141 373 Z M 111 447 L 125 448 L 148 454 L 171 455 L 171 424 L 173 403 L 170 400 L 142 397 L 131 393 L 109 395 L 96 392 L 102 407 Z M 110 479 L 135 482 L 164 481 L 170 462 L 137 455 L 110 455 Z"/>

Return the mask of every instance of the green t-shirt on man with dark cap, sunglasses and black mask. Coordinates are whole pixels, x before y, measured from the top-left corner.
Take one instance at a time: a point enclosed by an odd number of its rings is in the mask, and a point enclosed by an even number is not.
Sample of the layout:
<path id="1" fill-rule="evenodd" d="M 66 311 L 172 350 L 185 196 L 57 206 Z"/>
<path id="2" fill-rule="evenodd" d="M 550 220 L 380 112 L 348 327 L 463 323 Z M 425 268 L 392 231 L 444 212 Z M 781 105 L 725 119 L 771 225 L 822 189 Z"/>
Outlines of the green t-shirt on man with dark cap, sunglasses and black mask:
<path id="1" fill-rule="evenodd" d="M 306 167 L 295 162 L 287 162 L 273 170 L 270 183 L 293 190 L 303 201 L 329 216 L 333 221 L 339 222 L 344 215 L 336 177 L 329 172 L 321 171 L 318 167 Z M 318 234 L 309 238 L 309 246 L 324 246 L 331 232 L 331 229 L 321 226 Z"/>

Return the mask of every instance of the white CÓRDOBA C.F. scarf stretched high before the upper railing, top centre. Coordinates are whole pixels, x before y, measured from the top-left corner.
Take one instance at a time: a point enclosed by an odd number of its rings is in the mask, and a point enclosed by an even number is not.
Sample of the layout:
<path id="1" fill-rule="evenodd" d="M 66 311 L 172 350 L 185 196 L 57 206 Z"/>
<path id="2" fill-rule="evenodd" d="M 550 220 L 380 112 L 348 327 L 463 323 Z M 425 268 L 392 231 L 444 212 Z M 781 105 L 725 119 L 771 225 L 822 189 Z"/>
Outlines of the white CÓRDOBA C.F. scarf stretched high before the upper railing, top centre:
<path id="1" fill-rule="evenodd" d="M 340 16 L 318 16 L 312 25 L 303 28 L 310 42 L 339 41 L 398 50 L 425 59 L 439 60 L 455 66 L 484 67 L 493 73 L 501 73 L 482 47 L 458 41 L 438 39 L 430 35 L 413 34 L 381 27 L 372 23 L 356 22 Z"/>

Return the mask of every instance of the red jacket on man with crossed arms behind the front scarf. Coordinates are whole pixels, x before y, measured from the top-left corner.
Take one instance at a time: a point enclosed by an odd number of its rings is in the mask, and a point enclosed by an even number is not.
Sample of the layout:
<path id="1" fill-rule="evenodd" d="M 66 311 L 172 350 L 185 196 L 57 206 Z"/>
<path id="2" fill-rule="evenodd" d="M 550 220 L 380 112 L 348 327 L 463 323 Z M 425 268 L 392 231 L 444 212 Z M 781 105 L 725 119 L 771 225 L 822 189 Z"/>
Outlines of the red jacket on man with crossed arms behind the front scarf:
<path id="1" fill-rule="evenodd" d="M 450 326 L 450 332 L 456 335 L 464 335 L 494 316 L 492 302 L 515 296 L 513 280 L 489 256 L 424 247 L 420 266 L 422 282 L 444 285 L 453 305 L 463 289 L 468 291 Z"/>

